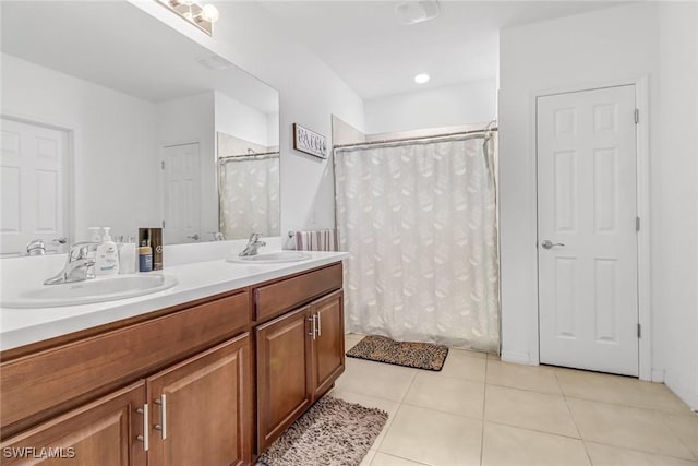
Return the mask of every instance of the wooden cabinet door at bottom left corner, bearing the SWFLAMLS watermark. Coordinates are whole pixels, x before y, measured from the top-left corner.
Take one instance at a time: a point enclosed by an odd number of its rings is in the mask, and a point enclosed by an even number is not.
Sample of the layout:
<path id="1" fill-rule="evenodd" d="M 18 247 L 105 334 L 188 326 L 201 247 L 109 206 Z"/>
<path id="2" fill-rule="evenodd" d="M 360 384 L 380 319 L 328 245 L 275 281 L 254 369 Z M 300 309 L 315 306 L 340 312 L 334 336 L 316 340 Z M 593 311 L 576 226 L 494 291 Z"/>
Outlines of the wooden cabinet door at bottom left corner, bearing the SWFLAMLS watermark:
<path id="1" fill-rule="evenodd" d="M 141 381 L 8 439 L 2 464 L 145 466 L 144 403 Z"/>

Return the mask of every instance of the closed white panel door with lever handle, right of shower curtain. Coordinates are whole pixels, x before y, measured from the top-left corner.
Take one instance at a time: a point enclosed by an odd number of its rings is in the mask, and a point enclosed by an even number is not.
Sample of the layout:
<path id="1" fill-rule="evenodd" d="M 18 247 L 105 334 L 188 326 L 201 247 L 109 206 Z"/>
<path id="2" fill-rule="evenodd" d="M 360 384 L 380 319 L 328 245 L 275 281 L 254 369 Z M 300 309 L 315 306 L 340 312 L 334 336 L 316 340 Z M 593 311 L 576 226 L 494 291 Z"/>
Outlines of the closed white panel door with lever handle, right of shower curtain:
<path id="1" fill-rule="evenodd" d="M 635 86 L 537 106 L 540 360 L 637 375 Z"/>

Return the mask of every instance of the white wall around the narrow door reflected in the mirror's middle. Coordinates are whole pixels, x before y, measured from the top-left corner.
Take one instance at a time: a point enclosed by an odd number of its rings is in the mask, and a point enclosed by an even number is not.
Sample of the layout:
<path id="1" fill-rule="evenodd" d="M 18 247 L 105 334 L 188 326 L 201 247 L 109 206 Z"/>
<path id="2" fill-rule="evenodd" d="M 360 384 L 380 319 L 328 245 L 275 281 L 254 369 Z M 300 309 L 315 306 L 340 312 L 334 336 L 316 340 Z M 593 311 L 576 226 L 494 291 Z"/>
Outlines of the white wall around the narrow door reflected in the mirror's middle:
<path id="1" fill-rule="evenodd" d="M 157 104 L 158 159 L 168 145 L 198 143 L 201 177 L 200 235 L 218 231 L 218 191 L 216 188 L 216 129 L 214 93 L 206 92 Z M 161 174 L 157 178 L 161 182 Z M 158 199 L 164 187 L 158 186 Z M 161 205 L 161 204 L 160 204 Z M 164 210 L 161 212 L 165 212 Z"/>

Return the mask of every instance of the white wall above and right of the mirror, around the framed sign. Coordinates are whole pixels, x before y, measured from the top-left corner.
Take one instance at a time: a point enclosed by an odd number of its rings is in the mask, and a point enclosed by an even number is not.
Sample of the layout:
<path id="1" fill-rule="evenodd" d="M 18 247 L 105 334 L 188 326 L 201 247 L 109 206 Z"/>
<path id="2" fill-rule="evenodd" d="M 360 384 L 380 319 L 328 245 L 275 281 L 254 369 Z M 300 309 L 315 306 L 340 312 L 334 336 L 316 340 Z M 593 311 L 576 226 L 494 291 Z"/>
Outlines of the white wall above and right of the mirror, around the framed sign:
<path id="1" fill-rule="evenodd" d="M 292 148 L 293 122 L 330 136 L 330 115 L 363 128 L 363 101 L 323 61 L 292 39 L 285 24 L 255 2 L 218 2 L 214 36 L 197 32 L 153 1 L 129 0 L 279 91 L 281 231 L 334 226 L 332 157 Z"/>

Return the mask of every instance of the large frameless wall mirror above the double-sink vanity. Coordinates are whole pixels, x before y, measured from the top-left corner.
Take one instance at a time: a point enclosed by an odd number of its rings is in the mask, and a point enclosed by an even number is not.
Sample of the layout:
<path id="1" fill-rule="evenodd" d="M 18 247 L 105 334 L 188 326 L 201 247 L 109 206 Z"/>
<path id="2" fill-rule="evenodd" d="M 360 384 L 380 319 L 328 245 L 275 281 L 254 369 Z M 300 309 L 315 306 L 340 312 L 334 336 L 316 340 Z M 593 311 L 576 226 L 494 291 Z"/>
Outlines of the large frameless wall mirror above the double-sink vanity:
<path id="1" fill-rule="evenodd" d="M 4 256 L 93 226 L 279 235 L 274 88 L 125 1 L 1 9 Z"/>

